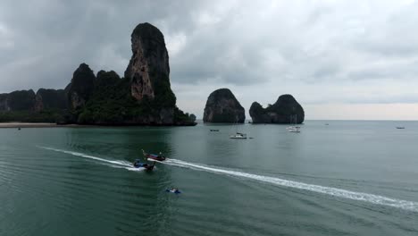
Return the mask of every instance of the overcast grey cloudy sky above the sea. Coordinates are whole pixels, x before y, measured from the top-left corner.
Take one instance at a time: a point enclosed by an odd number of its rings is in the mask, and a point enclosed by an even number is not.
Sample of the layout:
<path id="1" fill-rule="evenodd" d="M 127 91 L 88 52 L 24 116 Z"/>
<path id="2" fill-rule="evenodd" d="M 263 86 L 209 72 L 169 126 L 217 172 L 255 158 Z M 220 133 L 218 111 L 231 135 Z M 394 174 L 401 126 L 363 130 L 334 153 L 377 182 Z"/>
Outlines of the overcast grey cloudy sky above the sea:
<path id="1" fill-rule="evenodd" d="M 228 88 L 247 112 L 291 94 L 305 119 L 418 120 L 418 2 L 0 2 L 0 93 L 63 89 L 80 63 L 123 76 L 130 33 L 163 32 L 177 105 Z"/>

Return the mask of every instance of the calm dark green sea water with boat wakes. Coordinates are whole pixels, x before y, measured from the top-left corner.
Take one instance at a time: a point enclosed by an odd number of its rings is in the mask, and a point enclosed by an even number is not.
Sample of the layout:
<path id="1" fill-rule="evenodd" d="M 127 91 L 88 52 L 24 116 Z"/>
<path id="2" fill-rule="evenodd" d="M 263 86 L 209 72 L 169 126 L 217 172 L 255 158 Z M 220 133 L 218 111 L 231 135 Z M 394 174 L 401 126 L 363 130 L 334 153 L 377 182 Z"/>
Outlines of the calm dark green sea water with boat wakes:
<path id="1" fill-rule="evenodd" d="M 418 122 L 324 123 L 2 129 L 0 235 L 418 235 Z"/>

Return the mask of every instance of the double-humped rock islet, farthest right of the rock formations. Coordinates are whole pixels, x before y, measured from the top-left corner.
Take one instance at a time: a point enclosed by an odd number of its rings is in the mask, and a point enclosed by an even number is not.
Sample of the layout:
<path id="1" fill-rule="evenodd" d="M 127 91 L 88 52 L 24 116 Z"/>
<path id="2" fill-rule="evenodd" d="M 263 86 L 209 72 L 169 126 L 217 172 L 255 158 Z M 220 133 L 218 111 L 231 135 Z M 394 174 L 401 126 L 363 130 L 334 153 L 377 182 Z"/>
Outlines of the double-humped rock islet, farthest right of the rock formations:
<path id="1" fill-rule="evenodd" d="M 253 123 L 302 123 L 305 120 L 305 112 L 302 105 L 297 103 L 291 95 L 281 95 L 276 103 L 263 108 L 254 102 L 249 110 Z"/>

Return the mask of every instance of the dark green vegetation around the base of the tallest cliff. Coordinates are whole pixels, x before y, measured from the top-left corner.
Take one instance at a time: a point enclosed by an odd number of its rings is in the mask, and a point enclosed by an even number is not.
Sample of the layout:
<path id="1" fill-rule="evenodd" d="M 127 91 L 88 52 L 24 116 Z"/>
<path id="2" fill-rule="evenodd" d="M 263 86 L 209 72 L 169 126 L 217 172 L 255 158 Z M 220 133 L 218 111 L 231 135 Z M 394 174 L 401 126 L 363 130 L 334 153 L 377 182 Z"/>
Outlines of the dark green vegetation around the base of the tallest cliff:
<path id="1" fill-rule="evenodd" d="M 158 99 L 144 97 L 141 101 L 130 96 L 130 80 L 120 78 L 116 72 L 98 72 L 95 89 L 82 108 L 73 110 L 78 123 L 136 124 L 141 117 L 158 116 L 161 109 L 175 103 L 174 94 Z M 190 121 L 188 114 L 174 109 L 174 122 Z"/>

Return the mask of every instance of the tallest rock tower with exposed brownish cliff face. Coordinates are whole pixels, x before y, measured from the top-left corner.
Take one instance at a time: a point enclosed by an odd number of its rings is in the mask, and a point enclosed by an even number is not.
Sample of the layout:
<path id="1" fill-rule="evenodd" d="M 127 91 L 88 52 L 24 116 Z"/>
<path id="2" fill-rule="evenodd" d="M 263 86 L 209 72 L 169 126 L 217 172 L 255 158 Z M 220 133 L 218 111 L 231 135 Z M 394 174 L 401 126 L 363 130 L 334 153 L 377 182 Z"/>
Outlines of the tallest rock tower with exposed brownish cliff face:
<path id="1" fill-rule="evenodd" d="M 140 105 L 150 107 L 138 122 L 175 122 L 176 97 L 171 90 L 170 66 L 163 33 L 149 23 L 138 24 L 131 34 L 132 57 L 125 71 L 130 94 Z"/>

